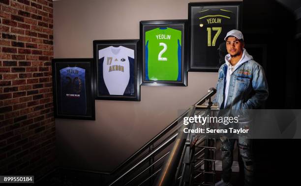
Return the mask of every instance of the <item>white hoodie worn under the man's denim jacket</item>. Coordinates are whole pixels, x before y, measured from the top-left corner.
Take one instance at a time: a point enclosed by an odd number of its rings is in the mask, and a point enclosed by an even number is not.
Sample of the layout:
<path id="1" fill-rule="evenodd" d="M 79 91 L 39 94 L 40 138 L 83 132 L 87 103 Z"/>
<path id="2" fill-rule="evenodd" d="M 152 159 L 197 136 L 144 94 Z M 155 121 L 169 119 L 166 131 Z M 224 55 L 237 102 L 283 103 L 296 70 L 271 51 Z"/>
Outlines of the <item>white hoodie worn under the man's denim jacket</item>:
<path id="1" fill-rule="evenodd" d="M 231 74 L 239 67 L 241 66 L 242 63 L 247 62 L 249 60 L 253 60 L 253 57 L 251 55 L 249 55 L 247 53 L 247 51 L 243 48 L 243 52 L 242 52 L 242 56 L 241 56 L 241 60 L 235 64 L 233 71 L 230 68 L 230 60 L 231 60 L 231 56 L 230 54 L 227 54 L 225 56 L 225 61 L 226 64 L 228 66 L 228 70 L 227 70 L 227 76 L 226 76 L 226 87 L 225 87 L 225 102 L 224 102 L 224 107 L 226 107 L 226 103 L 227 103 L 227 99 L 228 99 L 228 92 L 229 92 L 229 84 L 230 84 L 230 78 L 231 78 Z"/>

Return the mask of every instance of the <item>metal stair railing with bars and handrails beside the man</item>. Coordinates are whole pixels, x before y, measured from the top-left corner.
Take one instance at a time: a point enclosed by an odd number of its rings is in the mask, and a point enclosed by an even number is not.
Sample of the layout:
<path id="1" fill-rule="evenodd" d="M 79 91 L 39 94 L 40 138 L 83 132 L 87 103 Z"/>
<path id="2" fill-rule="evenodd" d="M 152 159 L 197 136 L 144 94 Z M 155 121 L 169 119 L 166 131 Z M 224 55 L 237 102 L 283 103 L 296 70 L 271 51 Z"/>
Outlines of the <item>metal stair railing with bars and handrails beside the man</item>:
<path id="1" fill-rule="evenodd" d="M 183 119 L 207 115 L 211 109 L 218 109 L 211 102 L 215 93 L 216 90 L 211 88 L 196 104 L 108 175 L 110 178 L 105 185 L 214 186 L 215 139 L 184 133 L 185 127 L 193 129 L 199 126 L 184 125 Z"/>

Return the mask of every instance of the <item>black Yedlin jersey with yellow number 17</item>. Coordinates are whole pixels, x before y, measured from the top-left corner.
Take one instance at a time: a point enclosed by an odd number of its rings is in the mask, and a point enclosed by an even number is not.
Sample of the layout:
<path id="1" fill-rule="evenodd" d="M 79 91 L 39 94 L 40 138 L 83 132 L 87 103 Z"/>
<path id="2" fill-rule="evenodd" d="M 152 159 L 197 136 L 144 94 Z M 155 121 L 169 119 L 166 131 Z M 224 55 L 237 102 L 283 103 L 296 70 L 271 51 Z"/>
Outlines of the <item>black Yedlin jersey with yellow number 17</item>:
<path id="1" fill-rule="evenodd" d="M 192 67 L 219 67 L 219 45 L 228 31 L 237 29 L 236 14 L 227 9 L 203 8 L 193 17 Z"/>

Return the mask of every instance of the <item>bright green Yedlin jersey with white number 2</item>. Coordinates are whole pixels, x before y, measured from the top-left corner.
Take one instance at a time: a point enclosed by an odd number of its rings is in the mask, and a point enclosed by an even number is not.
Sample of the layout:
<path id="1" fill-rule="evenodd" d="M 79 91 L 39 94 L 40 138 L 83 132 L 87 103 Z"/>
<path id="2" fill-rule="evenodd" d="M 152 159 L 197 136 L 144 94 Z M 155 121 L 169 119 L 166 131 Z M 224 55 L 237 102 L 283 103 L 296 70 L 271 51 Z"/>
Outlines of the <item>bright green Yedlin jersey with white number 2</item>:
<path id="1" fill-rule="evenodd" d="M 145 79 L 181 81 L 181 31 L 156 28 L 145 32 Z"/>

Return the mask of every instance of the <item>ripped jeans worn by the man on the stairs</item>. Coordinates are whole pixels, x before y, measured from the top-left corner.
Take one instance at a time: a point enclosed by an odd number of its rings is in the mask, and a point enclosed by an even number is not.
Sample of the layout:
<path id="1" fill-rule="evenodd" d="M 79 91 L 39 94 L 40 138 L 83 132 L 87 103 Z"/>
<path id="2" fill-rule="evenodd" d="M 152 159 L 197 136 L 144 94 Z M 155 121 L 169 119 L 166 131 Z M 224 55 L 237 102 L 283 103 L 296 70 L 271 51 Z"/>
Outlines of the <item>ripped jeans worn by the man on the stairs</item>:
<path id="1" fill-rule="evenodd" d="M 222 157 L 222 179 L 224 182 L 230 182 L 233 149 L 237 139 L 230 139 L 226 136 L 221 136 L 221 157 Z M 238 138 L 239 151 L 243 160 L 244 166 L 244 186 L 252 186 L 254 184 L 254 159 L 251 149 L 251 139 L 241 135 Z"/>

